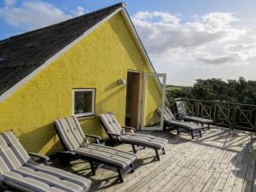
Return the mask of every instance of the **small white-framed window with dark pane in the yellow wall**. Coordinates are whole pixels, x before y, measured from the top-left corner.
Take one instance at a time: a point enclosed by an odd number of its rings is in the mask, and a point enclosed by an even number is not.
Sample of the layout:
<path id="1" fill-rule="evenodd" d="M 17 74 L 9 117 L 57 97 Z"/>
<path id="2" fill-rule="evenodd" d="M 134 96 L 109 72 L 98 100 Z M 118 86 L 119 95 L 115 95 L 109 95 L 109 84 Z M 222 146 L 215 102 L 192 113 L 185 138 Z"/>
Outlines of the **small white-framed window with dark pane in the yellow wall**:
<path id="1" fill-rule="evenodd" d="M 73 90 L 73 114 L 76 117 L 95 114 L 95 89 Z"/>

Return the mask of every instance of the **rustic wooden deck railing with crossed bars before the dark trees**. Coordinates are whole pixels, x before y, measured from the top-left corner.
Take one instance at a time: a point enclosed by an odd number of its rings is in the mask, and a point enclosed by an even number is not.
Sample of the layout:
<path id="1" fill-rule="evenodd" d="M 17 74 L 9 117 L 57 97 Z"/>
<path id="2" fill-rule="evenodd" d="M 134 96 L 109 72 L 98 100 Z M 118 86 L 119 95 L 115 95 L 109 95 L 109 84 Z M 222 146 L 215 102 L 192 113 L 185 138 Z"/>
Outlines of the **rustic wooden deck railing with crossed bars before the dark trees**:
<path id="1" fill-rule="evenodd" d="M 256 131 L 256 105 L 205 101 L 196 99 L 174 99 L 170 101 L 175 108 L 175 101 L 183 100 L 187 111 L 197 117 L 213 119 L 215 125 Z"/>

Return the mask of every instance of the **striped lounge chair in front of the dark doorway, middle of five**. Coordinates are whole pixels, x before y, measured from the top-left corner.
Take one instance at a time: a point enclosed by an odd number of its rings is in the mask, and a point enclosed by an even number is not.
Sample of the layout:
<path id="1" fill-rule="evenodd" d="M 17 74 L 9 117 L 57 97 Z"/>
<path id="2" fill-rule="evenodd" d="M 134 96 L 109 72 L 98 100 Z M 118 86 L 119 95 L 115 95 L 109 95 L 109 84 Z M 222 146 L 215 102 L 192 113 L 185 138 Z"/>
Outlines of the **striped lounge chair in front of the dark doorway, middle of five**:
<path id="1" fill-rule="evenodd" d="M 143 148 L 153 148 L 155 150 L 157 160 L 160 160 L 159 150 L 161 149 L 161 154 L 165 154 L 165 144 L 168 140 L 153 137 L 143 134 L 135 134 L 132 127 L 121 126 L 118 119 L 115 118 L 113 113 L 102 113 L 99 115 L 99 119 L 108 134 L 108 137 L 117 143 L 127 143 L 131 144 L 133 153 L 137 153 L 135 146 L 142 146 Z M 126 133 L 124 129 L 129 129 L 131 132 Z"/>

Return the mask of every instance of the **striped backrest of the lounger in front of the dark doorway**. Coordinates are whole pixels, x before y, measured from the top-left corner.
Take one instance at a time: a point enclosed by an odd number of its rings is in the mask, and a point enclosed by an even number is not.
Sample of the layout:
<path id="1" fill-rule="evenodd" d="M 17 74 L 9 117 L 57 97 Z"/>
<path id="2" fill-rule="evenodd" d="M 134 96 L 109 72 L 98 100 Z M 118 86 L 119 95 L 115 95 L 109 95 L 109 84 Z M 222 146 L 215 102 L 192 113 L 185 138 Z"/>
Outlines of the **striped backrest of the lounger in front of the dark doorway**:
<path id="1" fill-rule="evenodd" d="M 101 113 L 99 119 L 107 132 L 121 135 L 123 133 L 122 126 L 119 124 L 118 119 L 115 118 L 113 113 Z"/>

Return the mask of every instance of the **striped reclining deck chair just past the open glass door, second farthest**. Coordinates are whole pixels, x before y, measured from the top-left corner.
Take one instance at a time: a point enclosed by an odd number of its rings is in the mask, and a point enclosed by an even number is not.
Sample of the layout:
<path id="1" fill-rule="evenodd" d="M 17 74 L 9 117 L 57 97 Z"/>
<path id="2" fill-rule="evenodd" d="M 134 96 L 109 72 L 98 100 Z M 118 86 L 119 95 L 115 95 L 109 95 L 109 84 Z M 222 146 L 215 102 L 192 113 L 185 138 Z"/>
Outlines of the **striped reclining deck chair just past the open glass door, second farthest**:
<path id="1" fill-rule="evenodd" d="M 157 108 L 156 112 L 161 114 L 160 108 Z M 183 120 L 176 119 L 175 116 L 172 114 L 171 110 L 167 107 L 164 108 L 163 115 L 164 115 L 165 127 L 173 126 L 174 128 L 177 129 L 177 134 L 185 130 L 190 133 L 192 139 L 194 139 L 194 137 L 196 136 L 196 133 L 201 137 L 201 131 L 203 128 L 200 125 L 196 125 L 193 123 L 184 122 Z"/>

